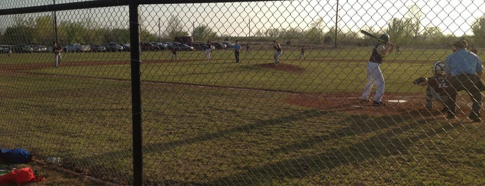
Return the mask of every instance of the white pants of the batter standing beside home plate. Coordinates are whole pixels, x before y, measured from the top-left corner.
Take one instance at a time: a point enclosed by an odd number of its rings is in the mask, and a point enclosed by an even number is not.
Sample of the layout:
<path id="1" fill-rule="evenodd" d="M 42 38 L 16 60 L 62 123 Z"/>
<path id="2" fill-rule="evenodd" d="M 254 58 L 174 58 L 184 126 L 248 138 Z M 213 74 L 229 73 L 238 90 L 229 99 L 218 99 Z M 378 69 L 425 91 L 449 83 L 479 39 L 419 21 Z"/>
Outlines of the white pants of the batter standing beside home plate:
<path id="1" fill-rule="evenodd" d="M 374 101 L 382 101 L 382 96 L 384 95 L 384 76 L 382 76 L 382 71 L 380 69 L 380 64 L 377 62 L 367 63 L 367 83 L 364 87 L 364 93 L 362 93 L 361 99 L 367 99 L 373 85 L 375 85 L 375 96 Z"/>

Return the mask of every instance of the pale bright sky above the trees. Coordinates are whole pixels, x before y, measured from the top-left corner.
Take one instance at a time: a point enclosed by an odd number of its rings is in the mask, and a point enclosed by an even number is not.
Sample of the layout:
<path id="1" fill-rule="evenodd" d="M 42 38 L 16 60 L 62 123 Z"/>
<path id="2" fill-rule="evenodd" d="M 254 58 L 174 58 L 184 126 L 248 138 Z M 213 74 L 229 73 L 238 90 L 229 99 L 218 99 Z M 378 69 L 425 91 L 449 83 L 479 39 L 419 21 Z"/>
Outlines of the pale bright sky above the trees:
<path id="1" fill-rule="evenodd" d="M 83 0 L 56 0 L 56 3 L 81 2 Z M 42 6 L 53 0 L 2 0 L 0 9 Z M 416 5 L 418 9 L 409 11 Z M 357 1 L 264 1 L 237 3 L 180 3 L 140 6 L 142 26 L 152 33 L 163 32 L 172 16 L 181 20 L 184 31 L 192 33 L 194 27 L 205 25 L 221 35 L 248 36 L 257 31 L 273 28 L 299 28 L 306 30 L 318 18 L 323 18 L 323 31 L 337 26 L 343 31 L 359 31 L 372 28 L 382 31 L 393 18 L 420 17 L 422 27 L 436 26 L 445 34 L 471 35 L 470 27 L 485 15 L 483 0 L 357 0 Z M 46 13 L 44 13 L 45 15 Z M 12 20 L 18 16 L 8 15 Z M 3 19 L 3 18 L 2 18 Z M 110 7 L 90 10 L 60 11 L 58 19 L 99 22 L 96 26 L 128 28 L 128 8 Z M 337 19 L 337 23 L 336 23 Z M 1 20 L 1 19 L 0 19 Z M 3 19 L 5 20 L 5 19 Z M 2 22 L 2 21 L 0 21 Z M 3 24 L 6 26 L 8 24 Z"/>

